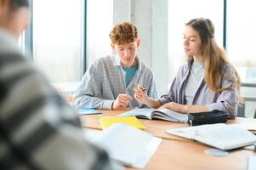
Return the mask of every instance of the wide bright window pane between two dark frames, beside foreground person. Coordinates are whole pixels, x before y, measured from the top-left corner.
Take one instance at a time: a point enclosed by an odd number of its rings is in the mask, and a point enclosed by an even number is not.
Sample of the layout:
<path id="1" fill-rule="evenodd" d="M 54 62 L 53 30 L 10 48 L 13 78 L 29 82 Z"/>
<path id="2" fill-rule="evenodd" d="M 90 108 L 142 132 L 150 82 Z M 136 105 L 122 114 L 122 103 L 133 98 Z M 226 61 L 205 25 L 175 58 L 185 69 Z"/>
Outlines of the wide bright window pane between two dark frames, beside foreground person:
<path id="1" fill-rule="evenodd" d="M 83 0 L 33 1 L 34 61 L 51 82 L 82 77 Z"/>

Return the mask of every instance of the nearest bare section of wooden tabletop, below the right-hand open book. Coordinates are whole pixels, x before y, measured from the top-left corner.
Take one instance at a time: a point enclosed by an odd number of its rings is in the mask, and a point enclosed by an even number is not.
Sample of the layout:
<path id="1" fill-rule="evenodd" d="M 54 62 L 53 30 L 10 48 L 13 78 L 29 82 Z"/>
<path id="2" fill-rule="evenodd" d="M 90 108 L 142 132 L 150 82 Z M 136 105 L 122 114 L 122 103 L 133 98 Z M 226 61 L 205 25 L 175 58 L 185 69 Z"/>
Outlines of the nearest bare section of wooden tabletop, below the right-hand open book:
<path id="1" fill-rule="evenodd" d="M 252 150 L 232 150 L 228 156 L 208 156 L 210 147 L 196 143 L 163 139 L 145 169 L 168 170 L 246 170 L 247 157 L 256 156 Z"/>

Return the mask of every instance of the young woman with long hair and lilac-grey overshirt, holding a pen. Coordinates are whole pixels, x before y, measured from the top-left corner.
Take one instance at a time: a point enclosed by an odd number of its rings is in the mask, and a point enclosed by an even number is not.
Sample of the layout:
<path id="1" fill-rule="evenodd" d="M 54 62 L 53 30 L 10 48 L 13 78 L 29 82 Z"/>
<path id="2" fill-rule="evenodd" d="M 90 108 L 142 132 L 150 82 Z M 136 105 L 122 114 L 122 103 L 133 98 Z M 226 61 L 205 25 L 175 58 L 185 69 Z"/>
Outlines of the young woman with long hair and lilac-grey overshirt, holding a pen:
<path id="1" fill-rule="evenodd" d="M 179 68 L 169 94 L 152 99 L 137 87 L 134 98 L 153 108 L 181 113 L 220 110 L 235 118 L 241 80 L 217 45 L 211 20 L 198 18 L 185 24 L 184 50 L 187 63 Z"/>

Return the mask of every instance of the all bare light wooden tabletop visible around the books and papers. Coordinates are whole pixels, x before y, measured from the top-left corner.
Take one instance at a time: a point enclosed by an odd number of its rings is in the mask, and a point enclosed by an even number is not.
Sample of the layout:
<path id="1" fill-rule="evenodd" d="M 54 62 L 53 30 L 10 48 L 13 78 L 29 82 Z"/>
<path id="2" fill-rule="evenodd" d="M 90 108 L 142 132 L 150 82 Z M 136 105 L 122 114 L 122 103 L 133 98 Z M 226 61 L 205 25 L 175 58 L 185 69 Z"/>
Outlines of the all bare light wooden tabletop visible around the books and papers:
<path id="1" fill-rule="evenodd" d="M 101 111 L 104 115 L 118 115 L 123 111 Z M 80 116 L 83 127 L 101 129 L 99 115 Z M 246 170 L 247 157 L 256 156 L 253 147 L 247 147 L 237 150 L 230 150 L 228 156 L 208 156 L 204 150 L 210 149 L 209 146 L 200 144 L 188 139 L 164 133 L 169 128 L 188 127 L 185 123 L 150 121 L 139 119 L 146 127 L 146 132 L 162 138 L 162 144 L 151 157 L 145 169 L 172 169 L 172 170 Z M 229 120 L 230 123 L 255 122 L 255 119 L 237 117 L 236 120 Z M 128 169 L 134 169 L 128 167 Z"/>

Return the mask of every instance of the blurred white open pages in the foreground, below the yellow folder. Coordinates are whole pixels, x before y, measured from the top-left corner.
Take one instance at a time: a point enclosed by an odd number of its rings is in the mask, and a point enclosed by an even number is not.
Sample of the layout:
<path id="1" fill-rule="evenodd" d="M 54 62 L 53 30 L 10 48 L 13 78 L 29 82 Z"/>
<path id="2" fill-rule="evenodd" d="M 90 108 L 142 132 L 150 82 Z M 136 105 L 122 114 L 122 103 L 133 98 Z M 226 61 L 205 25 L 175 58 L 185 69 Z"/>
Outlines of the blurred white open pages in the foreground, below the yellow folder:
<path id="1" fill-rule="evenodd" d="M 89 142 L 108 152 L 115 161 L 129 167 L 144 168 L 162 139 L 135 127 L 115 123 L 104 131 L 86 133 Z"/>

